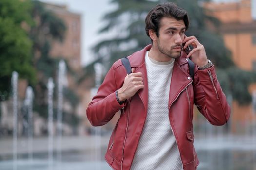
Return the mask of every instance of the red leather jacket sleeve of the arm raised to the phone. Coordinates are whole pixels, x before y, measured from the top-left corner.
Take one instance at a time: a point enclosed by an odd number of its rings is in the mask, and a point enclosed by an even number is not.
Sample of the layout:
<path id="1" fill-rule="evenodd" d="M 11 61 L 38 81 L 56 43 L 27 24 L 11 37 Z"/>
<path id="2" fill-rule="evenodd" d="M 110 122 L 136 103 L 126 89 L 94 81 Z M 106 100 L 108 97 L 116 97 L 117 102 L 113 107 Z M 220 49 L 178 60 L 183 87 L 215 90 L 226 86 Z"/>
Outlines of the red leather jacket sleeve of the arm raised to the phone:
<path id="1" fill-rule="evenodd" d="M 200 113 L 211 124 L 224 125 L 230 117 L 230 106 L 217 80 L 214 66 L 205 70 L 197 69 L 194 81 L 194 103 Z"/>

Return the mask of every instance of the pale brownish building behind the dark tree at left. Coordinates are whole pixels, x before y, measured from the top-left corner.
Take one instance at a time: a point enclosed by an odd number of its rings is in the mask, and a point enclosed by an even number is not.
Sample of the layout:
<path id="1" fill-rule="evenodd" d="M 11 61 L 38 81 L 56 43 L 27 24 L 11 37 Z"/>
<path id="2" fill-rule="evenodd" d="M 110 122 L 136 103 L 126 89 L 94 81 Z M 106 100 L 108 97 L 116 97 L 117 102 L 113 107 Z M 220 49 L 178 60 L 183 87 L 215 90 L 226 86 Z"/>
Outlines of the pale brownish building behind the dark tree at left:
<path id="1" fill-rule="evenodd" d="M 66 5 L 45 3 L 45 7 L 61 18 L 66 27 L 63 42 L 54 41 L 50 55 L 61 57 L 76 71 L 81 69 L 81 15 L 68 10 Z"/>

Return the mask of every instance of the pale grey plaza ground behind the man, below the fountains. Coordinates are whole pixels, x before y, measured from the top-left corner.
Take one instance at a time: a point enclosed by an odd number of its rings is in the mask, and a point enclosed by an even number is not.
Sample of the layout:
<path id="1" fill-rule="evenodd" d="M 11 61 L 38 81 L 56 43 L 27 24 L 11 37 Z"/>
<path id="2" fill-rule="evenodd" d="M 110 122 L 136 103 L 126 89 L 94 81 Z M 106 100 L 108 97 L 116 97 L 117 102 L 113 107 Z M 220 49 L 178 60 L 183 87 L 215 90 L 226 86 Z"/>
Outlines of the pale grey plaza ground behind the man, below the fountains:
<path id="1" fill-rule="evenodd" d="M 57 160 L 54 151 L 49 168 L 47 137 L 33 139 L 33 160 L 28 159 L 28 140 L 18 138 L 17 167 L 18 170 L 111 170 L 104 161 L 108 140 L 108 135 L 63 136 L 62 161 Z M 12 148 L 12 138 L 0 138 L 0 170 L 13 170 Z M 198 170 L 256 170 L 256 136 L 195 134 L 195 148 L 200 160 Z"/>

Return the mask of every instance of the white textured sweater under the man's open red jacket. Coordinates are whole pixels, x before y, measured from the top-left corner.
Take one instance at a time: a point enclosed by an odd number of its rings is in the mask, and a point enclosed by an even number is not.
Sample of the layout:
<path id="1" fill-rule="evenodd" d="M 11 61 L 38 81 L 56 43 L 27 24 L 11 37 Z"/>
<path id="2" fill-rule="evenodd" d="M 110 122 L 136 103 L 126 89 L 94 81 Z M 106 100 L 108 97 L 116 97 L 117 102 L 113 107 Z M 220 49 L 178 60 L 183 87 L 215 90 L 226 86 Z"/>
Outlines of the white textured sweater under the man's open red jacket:
<path id="1" fill-rule="evenodd" d="M 131 170 L 182 170 L 169 121 L 169 91 L 174 60 L 157 62 L 145 56 L 148 112 Z"/>

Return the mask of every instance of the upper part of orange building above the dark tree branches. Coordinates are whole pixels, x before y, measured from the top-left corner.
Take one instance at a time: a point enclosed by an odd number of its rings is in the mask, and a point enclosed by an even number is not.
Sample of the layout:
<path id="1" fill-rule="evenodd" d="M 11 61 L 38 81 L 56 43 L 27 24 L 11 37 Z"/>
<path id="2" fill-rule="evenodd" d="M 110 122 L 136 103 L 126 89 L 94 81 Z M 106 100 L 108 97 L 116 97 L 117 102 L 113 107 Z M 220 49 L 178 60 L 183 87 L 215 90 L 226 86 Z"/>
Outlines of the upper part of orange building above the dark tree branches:
<path id="1" fill-rule="evenodd" d="M 253 1 L 256 0 L 210 2 L 205 4 L 205 8 L 222 22 L 218 31 L 223 35 L 236 65 L 256 71 L 256 7 Z"/>

